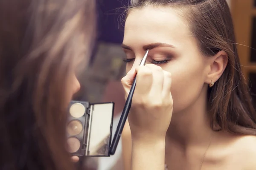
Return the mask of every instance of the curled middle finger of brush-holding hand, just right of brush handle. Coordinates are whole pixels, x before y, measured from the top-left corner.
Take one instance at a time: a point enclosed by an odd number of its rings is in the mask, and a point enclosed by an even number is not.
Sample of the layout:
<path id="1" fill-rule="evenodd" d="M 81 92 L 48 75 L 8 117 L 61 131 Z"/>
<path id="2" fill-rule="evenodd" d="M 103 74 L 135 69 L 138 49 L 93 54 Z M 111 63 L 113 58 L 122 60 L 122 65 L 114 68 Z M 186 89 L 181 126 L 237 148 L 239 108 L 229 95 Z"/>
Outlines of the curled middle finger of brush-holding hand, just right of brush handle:
<path id="1" fill-rule="evenodd" d="M 145 66 L 138 66 L 135 71 L 137 72 L 137 82 L 134 93 L 139 95 L 148 94 L 153 81 L 152 71 Z"/>

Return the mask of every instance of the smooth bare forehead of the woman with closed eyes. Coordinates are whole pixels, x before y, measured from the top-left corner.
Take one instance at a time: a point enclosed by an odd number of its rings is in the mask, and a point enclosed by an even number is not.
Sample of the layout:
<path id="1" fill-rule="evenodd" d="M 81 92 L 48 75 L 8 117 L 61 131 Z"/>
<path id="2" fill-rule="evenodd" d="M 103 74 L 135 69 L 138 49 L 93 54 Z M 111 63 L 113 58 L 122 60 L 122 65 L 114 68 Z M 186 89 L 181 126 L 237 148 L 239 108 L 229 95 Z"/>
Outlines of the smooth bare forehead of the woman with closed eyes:
<path id="1" fill-rule="evenodd" d="M 174 9 L 148 6 L 130 11 L 123 43 L 131 47 L 154 42 L 179 46 L 191 37 L 187 22 Z"/>

